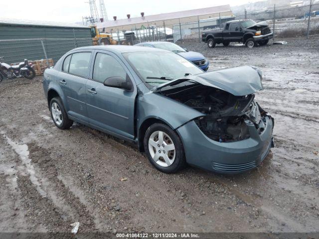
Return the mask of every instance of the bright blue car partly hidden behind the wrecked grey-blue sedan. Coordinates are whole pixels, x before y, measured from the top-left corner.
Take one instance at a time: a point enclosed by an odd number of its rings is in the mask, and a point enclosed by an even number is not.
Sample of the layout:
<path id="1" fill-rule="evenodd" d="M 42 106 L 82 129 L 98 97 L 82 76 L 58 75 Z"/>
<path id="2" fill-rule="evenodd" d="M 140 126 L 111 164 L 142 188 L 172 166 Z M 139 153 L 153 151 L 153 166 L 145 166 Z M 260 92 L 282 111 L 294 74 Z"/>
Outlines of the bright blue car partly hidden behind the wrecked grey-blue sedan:
<path id="1" fill-rule="evenodd" d="M 188 61 L 191 61 L 200 69 L 207 71 L 209 67 L 209 61 L 199 52 L 194 51 L 187 51 L 186 49 L 181 48 L 180 46 L 167 42 L 167 41 L 154 41 L 154 42 L 144 42 L 136 44 L 136 46 L 148 46 L 148 47 L 155 47 L 159 49 L 164 49 L 168 51 L 172 51 Z"/>

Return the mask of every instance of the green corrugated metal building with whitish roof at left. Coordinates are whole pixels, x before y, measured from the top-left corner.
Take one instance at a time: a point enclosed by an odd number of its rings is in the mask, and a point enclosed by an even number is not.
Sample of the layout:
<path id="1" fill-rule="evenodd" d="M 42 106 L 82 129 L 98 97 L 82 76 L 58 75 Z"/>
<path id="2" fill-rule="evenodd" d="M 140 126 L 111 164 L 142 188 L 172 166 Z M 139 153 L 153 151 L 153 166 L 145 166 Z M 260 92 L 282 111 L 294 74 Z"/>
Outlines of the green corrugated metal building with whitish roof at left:
<path id="1" fill-rule="evenodd" d="M 6 63 L 52 58 L 92 45 L 91 28 L 75 24 L 0 19 L 0 57 Z"/>

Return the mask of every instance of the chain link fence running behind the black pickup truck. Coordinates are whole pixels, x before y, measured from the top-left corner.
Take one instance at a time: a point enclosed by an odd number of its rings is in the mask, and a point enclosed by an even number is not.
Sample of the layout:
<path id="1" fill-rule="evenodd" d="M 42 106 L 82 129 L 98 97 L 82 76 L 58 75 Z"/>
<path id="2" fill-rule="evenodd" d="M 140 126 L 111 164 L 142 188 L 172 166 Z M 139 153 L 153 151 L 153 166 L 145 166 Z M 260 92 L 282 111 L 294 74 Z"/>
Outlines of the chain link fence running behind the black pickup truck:
<path id="1" fill-rule="evenodd" d="M 129 31 L 112 32 L 113 38 L 134 45 L 150 41 L 171 41 L 175 43 L 201 42 L 203 30 L 223 29 L 224 23 L 230 20 L 252 19 L 256 22 L 267 21 L 274 31 L 274 38 L 285 37 L 318 37 L 319 36 L 319 3 L 276 8 L 274 5 L 266 10 L 246 12 L 240 15 L 225 16 L 223 12 L 218 17 L 200 19 L 200 16 L 179 18 L 178 24 L 169 20 L 162 24 L 149 22 L 143 29 L 132 28 Z"/>

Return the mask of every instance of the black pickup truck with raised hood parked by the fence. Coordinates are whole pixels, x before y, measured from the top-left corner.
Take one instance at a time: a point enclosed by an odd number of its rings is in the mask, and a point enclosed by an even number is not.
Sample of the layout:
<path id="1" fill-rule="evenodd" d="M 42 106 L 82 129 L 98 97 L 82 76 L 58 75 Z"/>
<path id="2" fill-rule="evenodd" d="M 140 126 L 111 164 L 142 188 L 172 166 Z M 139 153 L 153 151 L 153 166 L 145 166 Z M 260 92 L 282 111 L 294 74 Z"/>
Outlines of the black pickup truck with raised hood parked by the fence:
<path id="1" fill-rule="evenodd" d="M 228 46 L 230 42 L 242 42 L 252 48 L 256 43 L 267 45 L 273 34 L 265 21 L 256 23 L 253 20 L 233 20 L 226 22 L 223 30 L 203 31 L 202 41 L 209 48 L 221 43 Z"/>

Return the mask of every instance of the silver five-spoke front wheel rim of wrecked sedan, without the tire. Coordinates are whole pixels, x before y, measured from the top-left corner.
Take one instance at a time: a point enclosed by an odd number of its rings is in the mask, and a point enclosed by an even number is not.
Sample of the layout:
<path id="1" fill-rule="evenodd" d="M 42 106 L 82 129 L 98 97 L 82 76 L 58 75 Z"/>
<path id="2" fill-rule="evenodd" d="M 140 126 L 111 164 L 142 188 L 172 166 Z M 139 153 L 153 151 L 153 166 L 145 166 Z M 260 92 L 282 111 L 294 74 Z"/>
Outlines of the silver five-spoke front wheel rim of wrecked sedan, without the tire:
<path id="1" fill-rule="evenodd" d="M 173 140 L 163 131 L 151 134 L 149 151 L 153 160 L 162 167 L 170 166 L 175 160 L 176 150 Z"/>

